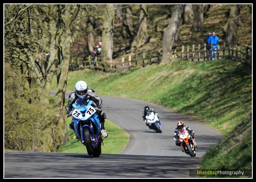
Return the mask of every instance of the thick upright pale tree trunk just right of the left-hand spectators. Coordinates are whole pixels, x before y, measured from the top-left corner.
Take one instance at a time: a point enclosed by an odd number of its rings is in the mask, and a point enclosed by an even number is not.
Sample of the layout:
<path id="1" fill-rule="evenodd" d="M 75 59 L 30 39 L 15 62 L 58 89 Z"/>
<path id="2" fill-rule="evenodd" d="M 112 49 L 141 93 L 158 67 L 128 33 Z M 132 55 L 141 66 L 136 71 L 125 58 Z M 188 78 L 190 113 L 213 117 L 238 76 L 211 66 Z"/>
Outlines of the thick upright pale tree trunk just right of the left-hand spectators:
<path id="1" fill-rule="evenodd" d="M 112 58 L 113 54 L 115 6 L 115 4 L 106 4 L 107 11 L 103 12 L 101 57 L 106 59 Z"/>

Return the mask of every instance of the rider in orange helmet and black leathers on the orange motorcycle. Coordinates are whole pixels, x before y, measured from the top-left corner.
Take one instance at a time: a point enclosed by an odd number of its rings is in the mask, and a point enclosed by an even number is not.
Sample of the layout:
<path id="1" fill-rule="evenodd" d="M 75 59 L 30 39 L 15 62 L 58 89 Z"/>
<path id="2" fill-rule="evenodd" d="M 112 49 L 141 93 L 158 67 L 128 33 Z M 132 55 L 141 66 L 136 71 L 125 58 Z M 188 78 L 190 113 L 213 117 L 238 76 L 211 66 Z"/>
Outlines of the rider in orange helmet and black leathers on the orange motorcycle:
<path id="1" fill-rule="evenodd" d="M 177 146 L 180 146 L 182 148 L 182 151 L 183 151 L 182 143 L 179 141 L 180 135 L 183 133 L 186 133 L 188 131 L 188 133 L 191 134 L 191 138 L 193 138 L 193 140 L 195 140 L 194 139 L 195 132 L 192 129 L 190 129 L 188 126 L 185 126 L 183 121 L 178 121 L 176 125 L 177 125 L 177 127 L 174 130 L 173 140 L 175 141 L 175 144 Z M 195 143 L 195 146 L 197 147 L 196 143 Z"/>

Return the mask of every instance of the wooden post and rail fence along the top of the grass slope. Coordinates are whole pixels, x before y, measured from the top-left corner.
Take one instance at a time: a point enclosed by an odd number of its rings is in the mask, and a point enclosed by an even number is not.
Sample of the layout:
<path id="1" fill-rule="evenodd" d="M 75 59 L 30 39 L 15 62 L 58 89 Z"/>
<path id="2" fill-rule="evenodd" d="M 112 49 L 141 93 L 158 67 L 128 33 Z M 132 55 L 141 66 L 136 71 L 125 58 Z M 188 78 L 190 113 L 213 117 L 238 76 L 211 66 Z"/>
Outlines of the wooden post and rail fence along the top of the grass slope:
<path id="1" fill-rule="evenodd" d="M 186 51 L 185 51 L 186 50 Z M 252 48 L 243 44 L 229 44 L 225 42 L 218 45 L 217 50 L 206 49 L 206 44 L 195 45 L 181 45 L 175 46 L 172 49 L 171 55 L 173 60 L 189 60 L 189 61 L 207 61 L 207 51 L 209 51 L 209 60 L 212 60 L 212 52 L 216 51 L 215 59 L 228 58 L 235 61 L 246 62 L 252 66 Z M 162 55 L 160 51 L 150 53 L 133 53 L 126 57 L 119 57 L 115 59 L 106 59 L 92 56 L 84 57 L 72 57 L 69 69 L 98 69 L 107 72 L 126 71 L 130 69 L 136 69 L 145 67 L 147 65 L 159 64 L 161 62 Z M 86 59 L 86 60 L 85 60 Z"/>

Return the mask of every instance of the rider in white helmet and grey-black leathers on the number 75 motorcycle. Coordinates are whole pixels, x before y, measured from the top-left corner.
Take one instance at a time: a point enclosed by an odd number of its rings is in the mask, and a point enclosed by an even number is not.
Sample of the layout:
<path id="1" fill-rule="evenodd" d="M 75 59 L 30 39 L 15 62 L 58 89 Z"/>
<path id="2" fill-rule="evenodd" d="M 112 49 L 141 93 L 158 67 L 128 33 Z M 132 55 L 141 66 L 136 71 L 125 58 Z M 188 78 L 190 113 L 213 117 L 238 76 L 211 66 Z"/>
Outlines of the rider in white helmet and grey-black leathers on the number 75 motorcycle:
<path id="1" fill-rule="evenodd" d="M 68 114 L 68 116 L 72 114 L 72 110 L 73 110 L 72 104 L 75 103 L 77 98 L 89 99 L 96 104 L 97 114 L 99 116 L 100 123 L 101 123 L 101 130 L 100 130 L 101 135 L 104 138 L 108 137 L 108 133 L 104 127 L 106 114 L 101 110 L 102 100 L 98 97 L 97 93 L 92 89 L 88 89 L 87 84 L 84 81 L 82 80 L 78 81 L 75 85 L 75 91 L 71 92 L 71 94 L 69 95 L 68 105 L 65 107 L 65 111 Z M 75 131 L 73 120 L 69 124 L 69 128 Z"/>

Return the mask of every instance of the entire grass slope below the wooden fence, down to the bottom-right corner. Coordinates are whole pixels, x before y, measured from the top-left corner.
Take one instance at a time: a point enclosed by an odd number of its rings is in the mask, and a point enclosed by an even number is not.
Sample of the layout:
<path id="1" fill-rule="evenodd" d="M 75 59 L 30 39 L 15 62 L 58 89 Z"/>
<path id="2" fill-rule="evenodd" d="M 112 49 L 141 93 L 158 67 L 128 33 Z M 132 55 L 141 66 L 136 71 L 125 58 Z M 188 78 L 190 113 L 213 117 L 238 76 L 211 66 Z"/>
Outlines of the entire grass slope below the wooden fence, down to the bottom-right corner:
<path id="1" fill-rule="evenodd" d="M 68 74 L 68 92 L 83 78 L 99 95 L 167 106 L 222 132 L 224 138 L 207 152 L 201 169 L 252 170 L 252 122 L 244 122 L 252 108 L 252 67 L 225 59 L 177 60 L 122 73 Z"/>

